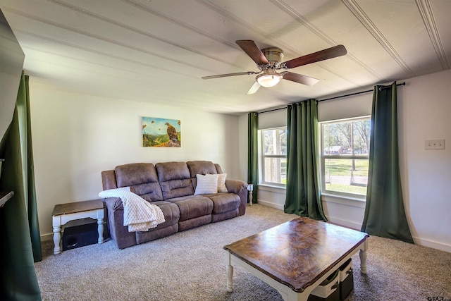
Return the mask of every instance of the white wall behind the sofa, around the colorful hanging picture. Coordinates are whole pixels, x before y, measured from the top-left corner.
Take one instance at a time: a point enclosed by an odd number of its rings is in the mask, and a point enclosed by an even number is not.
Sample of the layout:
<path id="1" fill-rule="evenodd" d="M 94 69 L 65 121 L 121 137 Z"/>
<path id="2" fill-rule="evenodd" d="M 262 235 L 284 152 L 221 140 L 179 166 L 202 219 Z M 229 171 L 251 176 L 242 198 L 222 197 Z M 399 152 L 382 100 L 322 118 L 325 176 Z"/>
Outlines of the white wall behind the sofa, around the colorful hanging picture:
<path id="1" fill-rule="evenodd" d="M 228 178 L 246 180 L 238 164 L 237 116 L 62 92 L 33 78 L 30 103 L 44 239 L 51 239 L 55 204 L 98 199 L 101 171 L 120 164 L 208 160 Z M 142 147 L 142 116 L 180 120 L 182 147 Z"/>

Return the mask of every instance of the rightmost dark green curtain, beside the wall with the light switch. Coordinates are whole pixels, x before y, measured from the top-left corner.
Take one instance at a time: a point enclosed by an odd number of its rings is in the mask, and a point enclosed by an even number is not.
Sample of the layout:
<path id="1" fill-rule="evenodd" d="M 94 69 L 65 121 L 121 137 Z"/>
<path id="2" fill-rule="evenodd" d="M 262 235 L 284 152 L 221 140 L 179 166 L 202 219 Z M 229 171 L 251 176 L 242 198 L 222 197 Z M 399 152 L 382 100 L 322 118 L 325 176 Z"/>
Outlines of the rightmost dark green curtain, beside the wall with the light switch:
<path id="1" fill-rule="evenodd" d="M 362 231 L 413 243 L 402 199 L 396 92 L 396 82 L 390 87 L 374 87 L 368 189 Z"/>

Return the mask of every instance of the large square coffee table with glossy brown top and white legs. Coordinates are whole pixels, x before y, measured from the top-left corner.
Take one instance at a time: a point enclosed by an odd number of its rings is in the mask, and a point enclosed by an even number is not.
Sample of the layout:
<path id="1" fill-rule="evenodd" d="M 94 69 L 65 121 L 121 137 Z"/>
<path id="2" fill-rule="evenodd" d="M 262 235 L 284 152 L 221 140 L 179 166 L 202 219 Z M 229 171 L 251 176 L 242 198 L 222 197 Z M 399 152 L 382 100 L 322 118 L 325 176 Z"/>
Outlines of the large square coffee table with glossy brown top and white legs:
<path id="1" fill-rule="evenodd" d="M 369 235 L 304 217 L 224 246 L 227 290 L 233 291 L 233 264 L 276 288 L 283 300 L 307 300 L 316 286 L 360 250 L 366 274 Z"/>

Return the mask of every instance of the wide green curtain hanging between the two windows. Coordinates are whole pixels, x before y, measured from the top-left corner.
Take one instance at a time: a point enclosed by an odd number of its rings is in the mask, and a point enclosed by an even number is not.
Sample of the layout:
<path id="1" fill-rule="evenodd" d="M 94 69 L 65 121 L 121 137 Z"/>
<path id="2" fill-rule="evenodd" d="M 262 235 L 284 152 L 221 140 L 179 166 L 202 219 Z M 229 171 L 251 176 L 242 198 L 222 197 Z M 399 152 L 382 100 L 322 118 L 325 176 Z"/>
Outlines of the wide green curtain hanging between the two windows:
<path id="1" fill-rule="evenodd" d="M 284 211 L 327 221 L 319 186 L 317 106 L 314 99 L 288 106 Z"/>

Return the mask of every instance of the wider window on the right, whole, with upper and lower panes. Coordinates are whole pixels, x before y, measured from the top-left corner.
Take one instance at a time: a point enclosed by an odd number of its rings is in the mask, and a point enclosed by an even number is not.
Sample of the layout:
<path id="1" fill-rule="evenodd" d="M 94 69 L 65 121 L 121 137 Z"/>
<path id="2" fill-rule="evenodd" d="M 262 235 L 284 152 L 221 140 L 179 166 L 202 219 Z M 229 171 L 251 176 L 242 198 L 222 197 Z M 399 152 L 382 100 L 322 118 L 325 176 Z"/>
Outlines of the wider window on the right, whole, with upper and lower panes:
<path id="1" fill-rule="evenodd" d="M 321 185 L 325 193 L 361 197 L 368 184 L 370 118 L 321 123 Z"/>

